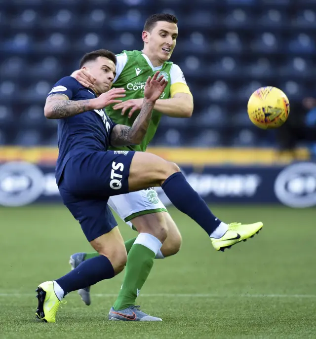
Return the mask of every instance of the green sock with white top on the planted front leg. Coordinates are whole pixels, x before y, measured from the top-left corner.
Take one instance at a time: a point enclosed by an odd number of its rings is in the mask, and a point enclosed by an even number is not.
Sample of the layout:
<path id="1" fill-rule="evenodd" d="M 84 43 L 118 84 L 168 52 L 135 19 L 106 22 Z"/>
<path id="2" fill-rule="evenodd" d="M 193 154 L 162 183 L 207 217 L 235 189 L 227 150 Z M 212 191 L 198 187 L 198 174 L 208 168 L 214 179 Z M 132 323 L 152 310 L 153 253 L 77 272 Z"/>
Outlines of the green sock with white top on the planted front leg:
<path id="1" fill-rule="evenodd" d="M 151 234 L 140 233 L 137 238 L 140 240 L 136 241 L 127 256 L 123 284 L 113 305 L 115 310 L 135 305 L 136 298 L 153 267 L 156 256 L 154 251 L 157 252 L 161 247 L 161 242 Z"/>

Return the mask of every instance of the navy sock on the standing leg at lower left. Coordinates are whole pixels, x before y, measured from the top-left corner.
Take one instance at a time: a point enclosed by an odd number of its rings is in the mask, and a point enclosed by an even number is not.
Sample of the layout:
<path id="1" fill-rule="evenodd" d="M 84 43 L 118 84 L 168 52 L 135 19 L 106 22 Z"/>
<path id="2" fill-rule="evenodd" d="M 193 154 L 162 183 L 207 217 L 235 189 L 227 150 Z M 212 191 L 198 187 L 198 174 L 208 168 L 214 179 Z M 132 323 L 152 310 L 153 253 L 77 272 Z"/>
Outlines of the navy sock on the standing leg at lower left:
<path id="1" fill-rule="evenodd" d="M 98 256 L 83 261 L 75 269 L 56 280 L 56 283 L 66 294 L 81 288 L 91 286 L 97 282 L 114 277 L 114 268 L 105 256 Z"/>

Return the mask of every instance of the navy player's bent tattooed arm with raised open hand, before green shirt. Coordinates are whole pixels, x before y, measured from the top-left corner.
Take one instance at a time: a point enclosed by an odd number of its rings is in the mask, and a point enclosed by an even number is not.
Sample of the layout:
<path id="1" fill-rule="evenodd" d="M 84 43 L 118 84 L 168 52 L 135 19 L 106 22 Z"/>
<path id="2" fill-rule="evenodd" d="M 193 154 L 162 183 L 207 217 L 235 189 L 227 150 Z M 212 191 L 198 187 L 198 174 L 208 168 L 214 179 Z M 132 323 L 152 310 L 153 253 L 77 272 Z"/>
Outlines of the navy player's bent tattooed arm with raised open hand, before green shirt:
<path id="1" fill-rule="evenodd" d="M 111 145 L 138 145 L 143 141 L 152 117 L 155 103 L 167 85 L 167 81 L 164 79 L 163 75 L 158 77 L 158 74 L 159 71 L 152 79 L 150 76 L 148 77 L 144 90 L 144 103 L 132 126 L 114 126 L 111 133 Z"/>

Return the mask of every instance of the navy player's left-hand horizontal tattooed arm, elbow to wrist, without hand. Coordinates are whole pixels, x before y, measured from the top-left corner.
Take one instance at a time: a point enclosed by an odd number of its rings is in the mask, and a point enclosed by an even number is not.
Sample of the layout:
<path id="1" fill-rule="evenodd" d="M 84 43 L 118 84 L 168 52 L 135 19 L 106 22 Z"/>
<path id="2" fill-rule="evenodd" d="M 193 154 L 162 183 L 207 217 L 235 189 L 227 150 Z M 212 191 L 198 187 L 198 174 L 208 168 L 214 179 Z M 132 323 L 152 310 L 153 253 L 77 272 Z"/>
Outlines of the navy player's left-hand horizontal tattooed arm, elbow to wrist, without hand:
<path id="1" fill-rule="evenodd" d="M 91 101 L 89 99 L 68 100 L 65 94 L 51 94 L 46 99 L 44 114 L 47 119 L 67 118 L 93 109 Z"/>

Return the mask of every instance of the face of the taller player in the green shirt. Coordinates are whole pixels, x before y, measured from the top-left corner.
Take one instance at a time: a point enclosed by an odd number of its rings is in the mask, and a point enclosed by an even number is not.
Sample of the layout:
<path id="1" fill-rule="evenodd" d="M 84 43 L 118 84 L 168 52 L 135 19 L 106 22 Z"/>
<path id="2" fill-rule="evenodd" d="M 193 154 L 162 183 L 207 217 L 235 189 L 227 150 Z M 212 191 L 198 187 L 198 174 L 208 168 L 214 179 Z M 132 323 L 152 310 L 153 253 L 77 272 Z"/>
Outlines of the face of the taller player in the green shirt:
<path id="1" fill-rule="evenodd" d="M 147 33 L 147 48 L 152 55 L 168 61 L 176 45 L 178 26 L 172 22 L 158 21 L 151 33 Z"/>

